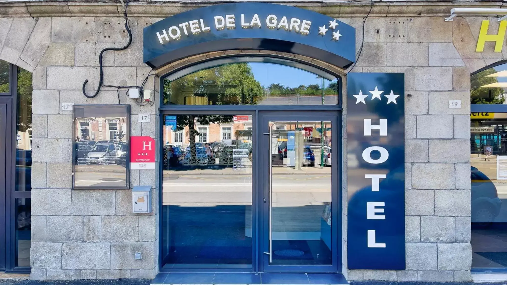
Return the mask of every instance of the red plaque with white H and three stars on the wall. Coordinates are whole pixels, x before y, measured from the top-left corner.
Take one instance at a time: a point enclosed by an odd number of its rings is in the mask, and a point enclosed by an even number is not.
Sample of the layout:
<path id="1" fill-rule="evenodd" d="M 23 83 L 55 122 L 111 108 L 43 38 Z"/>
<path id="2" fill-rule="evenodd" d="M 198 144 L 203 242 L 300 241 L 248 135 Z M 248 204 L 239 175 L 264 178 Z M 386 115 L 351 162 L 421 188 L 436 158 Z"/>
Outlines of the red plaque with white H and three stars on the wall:
<path id="1" fill-rule="evenodd" d="M 155 169 L 155 140 L 152 137 L 130 137 L 130 169 Z"/>

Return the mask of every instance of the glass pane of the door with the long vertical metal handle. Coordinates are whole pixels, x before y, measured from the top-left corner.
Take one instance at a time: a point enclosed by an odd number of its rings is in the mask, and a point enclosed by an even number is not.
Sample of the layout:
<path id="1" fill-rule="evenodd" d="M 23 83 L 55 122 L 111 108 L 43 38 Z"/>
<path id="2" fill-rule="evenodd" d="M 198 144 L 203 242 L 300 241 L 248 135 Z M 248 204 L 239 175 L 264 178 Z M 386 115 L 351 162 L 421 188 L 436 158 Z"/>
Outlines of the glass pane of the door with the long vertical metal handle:
<path id="1" fill-rule="evenodd" d="M 331 265 L 331 122 L 271 121 L 270 265 Z"/>

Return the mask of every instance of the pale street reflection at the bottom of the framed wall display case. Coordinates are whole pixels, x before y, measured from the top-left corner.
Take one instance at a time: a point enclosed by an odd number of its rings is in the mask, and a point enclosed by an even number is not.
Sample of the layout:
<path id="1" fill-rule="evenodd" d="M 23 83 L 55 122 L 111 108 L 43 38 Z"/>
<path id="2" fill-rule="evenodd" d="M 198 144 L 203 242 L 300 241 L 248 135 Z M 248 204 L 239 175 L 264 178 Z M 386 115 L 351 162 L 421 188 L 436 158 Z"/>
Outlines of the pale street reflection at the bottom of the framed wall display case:
<path id="1" fill-rule="evenodd" d="M 125 187 L 125 166 L 76 166 L 76 187 Z"/>

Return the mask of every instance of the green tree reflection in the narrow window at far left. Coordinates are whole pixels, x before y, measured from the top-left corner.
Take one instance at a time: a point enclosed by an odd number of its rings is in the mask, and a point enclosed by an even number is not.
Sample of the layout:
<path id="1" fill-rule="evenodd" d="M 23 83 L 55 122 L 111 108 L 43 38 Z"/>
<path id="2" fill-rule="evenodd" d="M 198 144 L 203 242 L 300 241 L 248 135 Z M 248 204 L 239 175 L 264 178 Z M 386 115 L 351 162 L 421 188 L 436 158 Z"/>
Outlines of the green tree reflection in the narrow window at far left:
<path id="1" fill-rule="evenodd" d="M 32 74 L 18 67 L 18 131 L 31 128 L 32 116 Z"/>

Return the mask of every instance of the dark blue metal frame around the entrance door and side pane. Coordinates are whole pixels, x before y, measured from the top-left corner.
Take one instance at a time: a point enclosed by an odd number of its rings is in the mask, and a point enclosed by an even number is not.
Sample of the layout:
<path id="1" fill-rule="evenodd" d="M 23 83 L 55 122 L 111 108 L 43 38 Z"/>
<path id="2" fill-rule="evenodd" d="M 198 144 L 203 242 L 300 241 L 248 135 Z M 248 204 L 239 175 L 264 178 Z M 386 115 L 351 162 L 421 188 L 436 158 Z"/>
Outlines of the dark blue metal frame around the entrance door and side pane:
<path id="1" fill-rule="evenodd" d="M 173 107 L 173 106 L 171 106 Z M 193 108 L 191 108 L 193 107 Z M 159 250 L 159 271 L 160 272 L 341 272 L 341 253 L 342 253 L 342 223 L 341 223 L 341 161 L 342 161 L 342 119 L 341 119 L 341 107 L 335 106 L 306 106 L 316 109 L 319 111 L 304 111 L 305 106 L 221 106 L 217 108 L 200 108 L 205 106 L 189 106 L 182 105 L 178 108 L 161 109 L 160 120 L 159 120 L 159 136 L 162 137 L 162 128 L 164 126 L 164 115 L 168 114 L 230 114 L 230 115 L 252 115 L 252 126 L 255 126 L 252 130 L 252 267 L 251 269 L 199 269 L 199 268 L 186 268 L 186 269 L 167 269 L 163 268 L 162 262 L 164 257 L 162 251 Z M 231 107 L 235 107 L 237 110 L 232 111 Z M 246 107 L 246 108 L 243 108 Z M 251 107 L 261 107 L 265 109 L 260 110 L 248 110 Z M 291 107 L 296 107 L 299 110 L 290 110 Z M 278 109 L 278 110 L 276 110 Z M 280 109 L 285 109 L 281 110 Z M 334 110 L 333 110 L 334 109 Z M 268 143 L 268 136 L 264 136 L 263 133 L 267 131 L 269 120 L 292 120 L 292 121 L 331 121 L 332 124 L 332 152 L 336 153 L 336 159 L 332 164 L 332 265 L 326 266 L 273 266 L 266 263 L 266 255 L 263 252 L 266 251 L 268 244 L 268 231 L 267 231 L 267 203 L 263 202 L 263 198 L 266 195 L 267 184 L 266 174 L 269 163 L 267 159 L 267 153 L 265 152 L 266 143 Z M 160 145 L 160 157 L 162 157 L 162 146 Z M 162 177 L 162 167 L 159 168 L 159 175 Z M 162 195 L 162 180 L 160 180 L 159 195 Z M 159 209 L 162 210 L 162 199 L 159 199 Z M 164 227 L 163 218 L 160 219 L 159 235 L 162 236 Z M 162 249 L 162 238 L 159 238 L 159 249 Z"/>

